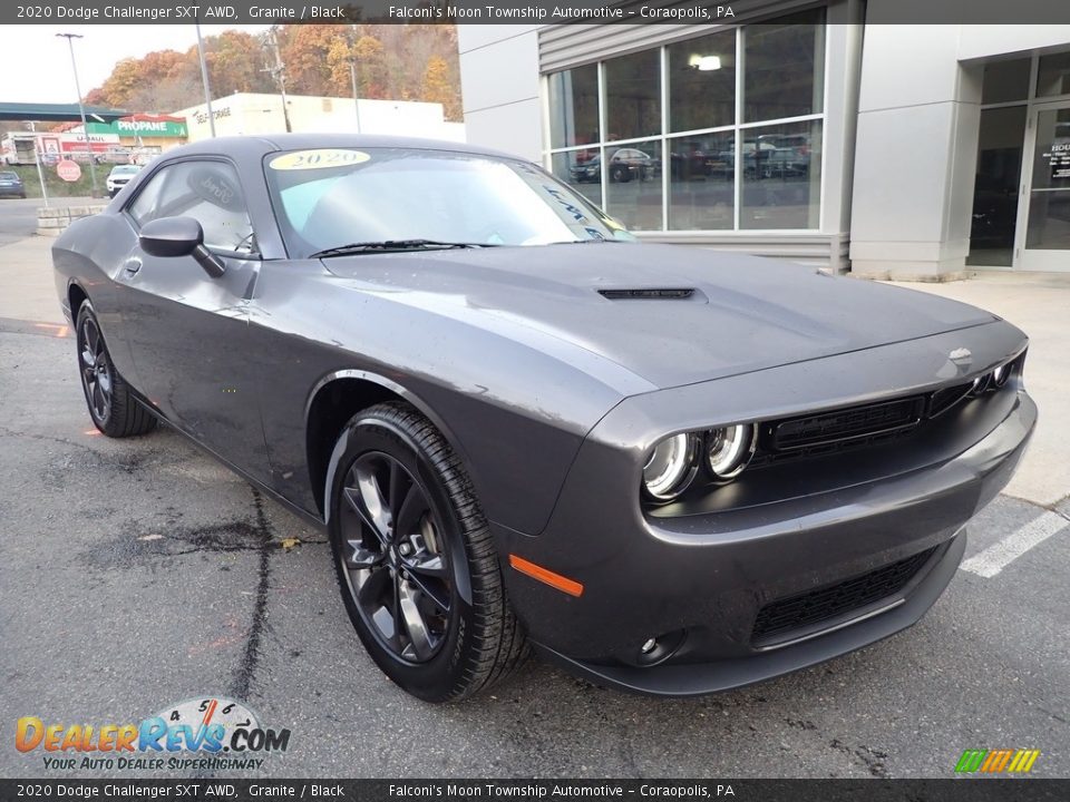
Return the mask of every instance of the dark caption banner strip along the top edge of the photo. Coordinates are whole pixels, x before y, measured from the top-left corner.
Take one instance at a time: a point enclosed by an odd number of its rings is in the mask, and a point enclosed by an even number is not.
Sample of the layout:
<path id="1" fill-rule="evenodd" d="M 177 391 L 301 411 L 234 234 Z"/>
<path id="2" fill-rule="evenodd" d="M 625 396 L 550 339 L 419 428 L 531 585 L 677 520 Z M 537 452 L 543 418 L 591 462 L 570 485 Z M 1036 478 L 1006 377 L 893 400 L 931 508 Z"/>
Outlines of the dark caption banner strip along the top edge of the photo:
<path id="1" fill-rule="evenodd" d="M 6 25 L 732 25 L 827 2 L 800 0 L 39 0 L 4 2 Z M 868 0 L 866 22 L 1070 23 L 1068 0 Z"/>

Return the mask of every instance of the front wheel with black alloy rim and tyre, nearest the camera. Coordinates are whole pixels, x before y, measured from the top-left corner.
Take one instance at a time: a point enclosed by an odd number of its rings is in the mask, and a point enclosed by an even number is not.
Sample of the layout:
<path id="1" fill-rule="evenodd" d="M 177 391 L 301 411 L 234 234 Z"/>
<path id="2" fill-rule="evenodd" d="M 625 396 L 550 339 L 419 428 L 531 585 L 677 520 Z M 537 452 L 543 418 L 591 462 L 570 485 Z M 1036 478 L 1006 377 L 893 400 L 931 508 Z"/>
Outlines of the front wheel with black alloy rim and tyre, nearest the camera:
<path id="1" fill-rule="evenodd" d="M 330 538 L 349 617 L 376 664 L 428 702 L 496 682 L 528 649 L 490 531 L 457 456 L 405 403 L 347 426 Z"/>

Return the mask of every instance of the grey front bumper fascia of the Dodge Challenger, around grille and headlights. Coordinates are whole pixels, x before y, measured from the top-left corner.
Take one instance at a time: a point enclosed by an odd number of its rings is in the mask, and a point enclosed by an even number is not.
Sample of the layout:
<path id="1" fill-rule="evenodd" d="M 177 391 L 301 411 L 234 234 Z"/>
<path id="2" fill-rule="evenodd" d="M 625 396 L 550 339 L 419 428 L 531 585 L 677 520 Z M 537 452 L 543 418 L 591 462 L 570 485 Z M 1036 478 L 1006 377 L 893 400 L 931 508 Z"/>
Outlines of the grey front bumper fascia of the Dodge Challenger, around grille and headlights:
<path id="1" fill-rule="evenodd" d="M 994 340 L 981 331 L 965 338 L 975 355 L 971 371 L 990 370 L 1024 346 L 1023 339 L 1012 336 L 1012 326 L 993 327 Z M 956 333 L 888 348 L 898 349 L 908 371 L 925 364 L 926 349 L 935 348 L 946 362 L 963 339 Z M 807 392 L 827 393 L 836 376 L 843 400 L 872 398 L 844 379 L 858 374 L 847 370 L 852 360 L 844 355 L 765 373 L 775 374 L 779 385 L 798 381 L 800 409 L 818 407 Z M 946 366 L 933 364 L 946 381 L 941 374 Z M 894 373 L 886 366 L 884 381 L 913 387 L 905 374 L 895 381 Z M 584 442 L 542 534 L 494 527 L 500 554 L 516 554 L 584 586 L 581 596 L 571 597 L 505 569 L 514 607 L 543 654 L 602 684 L 691 695 L 804 668 L 904 629 L 951 580 L 965 548 L 965 524 L 1005 486 L 1037 419 L 1033 401 L 1015 380 L 998 398 L 971 402 L 969 420 L 949 426 L 942 439 L 906 454 L 901 449 L 898 461 L 840 458 L 857 463 L 857 480 L 835 489 L 815 490 L 800 477 L 779 495 L 748 498 L 728 486 L 721 490 L 735 502 L 678 517 L 650 515 L 635 501 L 621 501 L 624 486 L 634 498 L 634 466 L 648 447 L 648 430 L 659 429 L 654 409 L 694 403 L 710 409 L 726 397 L 755 408 L 757 402 L 746 403 L 746 392 L 731 392 L 733 382 L 742 388 L 747 381 L 757 380 L 739 376 L 670 391 L 677 398 L 668 401 L 655 402 L 664 393 L 654 393 L 643 402 L 624 402 Z M 768 388 L 758 384 L 756 395 L 769 398 Z M 742 419 L 729 413 L 726 422 Z M 642 446 L 629 448 L 630 440 Z M 778 600 L 872 575 L 922 552 L 927 556 L 909 581 L 886 596 L 774 642 L 756 634 L 759 613 Z M 674 646 L 644 666 L 640 649 L 649 638 Z"/>

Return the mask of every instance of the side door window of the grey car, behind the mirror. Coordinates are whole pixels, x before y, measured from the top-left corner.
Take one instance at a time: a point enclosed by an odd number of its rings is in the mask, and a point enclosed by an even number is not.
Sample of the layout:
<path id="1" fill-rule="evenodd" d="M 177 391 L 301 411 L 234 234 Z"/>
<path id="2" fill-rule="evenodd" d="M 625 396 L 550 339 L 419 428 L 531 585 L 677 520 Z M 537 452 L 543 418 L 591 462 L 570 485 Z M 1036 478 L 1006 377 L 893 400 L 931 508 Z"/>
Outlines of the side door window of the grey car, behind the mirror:
<path id="1" fill-rule="evenodd" d="M 164 167 L 127 212 L 138 227 L 160 217 L 193 217 L 204 229 L 206 247 L 256 252 L 242 186 L 225 162 L 179 162 Z"/>

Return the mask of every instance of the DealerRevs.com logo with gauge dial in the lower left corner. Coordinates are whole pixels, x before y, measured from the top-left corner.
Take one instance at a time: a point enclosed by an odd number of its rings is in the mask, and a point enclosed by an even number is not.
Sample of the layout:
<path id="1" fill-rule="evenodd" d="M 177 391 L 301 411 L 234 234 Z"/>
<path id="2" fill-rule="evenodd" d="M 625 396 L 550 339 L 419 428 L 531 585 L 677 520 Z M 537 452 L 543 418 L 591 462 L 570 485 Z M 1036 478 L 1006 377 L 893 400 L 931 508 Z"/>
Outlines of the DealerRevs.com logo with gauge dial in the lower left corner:
<path id="1" fill-rule="evenodd" d="M 260 769 L 285 752 L 290 731 L 274 730 L 241 702 L 187 700 L 136 724 L 64 724 L 19 718 L 14 746 L 42 753 L 49 770 Z"/>

